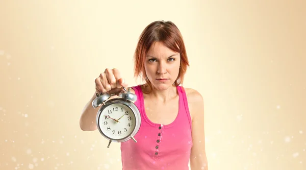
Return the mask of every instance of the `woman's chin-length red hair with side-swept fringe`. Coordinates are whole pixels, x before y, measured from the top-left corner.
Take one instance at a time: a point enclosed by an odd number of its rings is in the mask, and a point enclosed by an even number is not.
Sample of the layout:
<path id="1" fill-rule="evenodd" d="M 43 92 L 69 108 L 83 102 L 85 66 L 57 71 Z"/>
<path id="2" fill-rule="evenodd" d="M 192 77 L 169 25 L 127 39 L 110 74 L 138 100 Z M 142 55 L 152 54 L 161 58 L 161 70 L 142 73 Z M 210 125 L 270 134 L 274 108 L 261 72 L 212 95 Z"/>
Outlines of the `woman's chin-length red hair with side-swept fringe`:
<path id="1" fill-rule="evenodd" d="M 171 21 L 154 21 L 141 33 L 134 55 L 134 77 L 140 76 L 152 89 L 144 69 L 145 56 L 154 42 L 162 42 L 170 50 L 180 53 L 179 75 L 174 84 L 180 85 L 189 66 L 184 40 L 180 30 Z"/>

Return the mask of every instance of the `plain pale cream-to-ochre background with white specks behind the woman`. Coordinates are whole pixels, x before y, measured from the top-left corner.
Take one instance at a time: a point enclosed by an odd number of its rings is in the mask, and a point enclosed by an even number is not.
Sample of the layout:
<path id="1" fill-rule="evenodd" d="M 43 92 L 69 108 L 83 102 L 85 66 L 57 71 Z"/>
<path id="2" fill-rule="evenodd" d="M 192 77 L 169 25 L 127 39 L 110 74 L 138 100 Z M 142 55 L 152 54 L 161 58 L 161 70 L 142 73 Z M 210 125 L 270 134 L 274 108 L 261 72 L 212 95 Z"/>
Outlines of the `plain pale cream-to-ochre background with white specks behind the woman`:
<path id="1" fill-rule="evenodd" d="M 133 78 L 150 22 L 171 20 L 205 100 L 209 169 L 306 169 L 304 1 L 1 1 L 0 169 L 121 169 L 79 127 L 105 68 Z M 196 141 L 195 141 L 196 142 Z"/>

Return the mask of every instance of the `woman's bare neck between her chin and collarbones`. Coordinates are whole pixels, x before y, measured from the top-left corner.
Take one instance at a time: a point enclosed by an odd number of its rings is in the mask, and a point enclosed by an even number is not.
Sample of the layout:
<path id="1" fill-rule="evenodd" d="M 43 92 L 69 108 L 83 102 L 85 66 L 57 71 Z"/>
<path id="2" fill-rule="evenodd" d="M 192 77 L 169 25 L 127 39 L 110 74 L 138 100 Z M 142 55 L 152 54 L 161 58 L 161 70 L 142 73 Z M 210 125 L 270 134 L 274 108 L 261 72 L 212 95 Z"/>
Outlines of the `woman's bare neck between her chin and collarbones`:
<path id="1" fill-rule="evenodd" d="M 145 88 L 146 90 L 149 89 L 148 86 Z M 177 95 L 176 86 L 171 86 L 166 90 L 158 90 L 155 87 L 152 88 L 152 90 L 147 93 L 150 98 L 154 98 L 156 101 L 160 101 L 163 103 L 166 103 L 167 101 L 173 99 Z"/>

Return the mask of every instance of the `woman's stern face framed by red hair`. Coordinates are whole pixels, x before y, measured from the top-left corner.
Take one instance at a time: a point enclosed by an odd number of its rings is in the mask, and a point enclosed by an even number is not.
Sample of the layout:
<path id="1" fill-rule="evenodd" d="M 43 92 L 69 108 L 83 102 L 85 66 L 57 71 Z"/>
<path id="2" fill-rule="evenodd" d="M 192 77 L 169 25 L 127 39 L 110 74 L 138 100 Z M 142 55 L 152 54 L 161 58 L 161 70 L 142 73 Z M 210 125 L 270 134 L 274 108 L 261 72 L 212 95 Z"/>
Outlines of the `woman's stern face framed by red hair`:
<path id="1" fill-rule="evenodd" d="M 151 45 L 144 68 L 152 86 L 158 90 L 166 90 L 173 85 L 179 75 L 180 53 L 171 51 L 161 42 Z"/>

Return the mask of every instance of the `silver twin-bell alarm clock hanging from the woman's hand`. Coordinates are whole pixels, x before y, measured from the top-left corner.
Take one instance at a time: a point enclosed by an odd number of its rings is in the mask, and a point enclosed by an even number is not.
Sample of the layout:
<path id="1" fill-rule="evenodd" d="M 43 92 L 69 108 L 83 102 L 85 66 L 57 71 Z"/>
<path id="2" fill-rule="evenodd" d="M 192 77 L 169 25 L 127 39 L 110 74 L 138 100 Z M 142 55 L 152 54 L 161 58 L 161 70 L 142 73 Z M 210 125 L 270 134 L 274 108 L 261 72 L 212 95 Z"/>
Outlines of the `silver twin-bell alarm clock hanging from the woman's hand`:
<path id="1" fill-rule="evenodd" d="M 137 134 L 141 118 L 137 106 L 133 103 L 137 95 L 130 92 L 131 88 L 118 93 L 119 98 L 109 98 L 115 94 L 96 93 L 97 98 L 93 100 L 93 108 L 101 106 L 97 112 L 96 125 L 99 132 L 109 140 L 108 147 L 112 141 L 125 142 L 133 139 Z M 132 102 L 133 101 L 133 102 Z"/>

